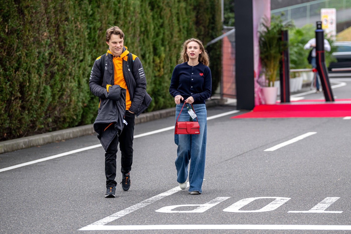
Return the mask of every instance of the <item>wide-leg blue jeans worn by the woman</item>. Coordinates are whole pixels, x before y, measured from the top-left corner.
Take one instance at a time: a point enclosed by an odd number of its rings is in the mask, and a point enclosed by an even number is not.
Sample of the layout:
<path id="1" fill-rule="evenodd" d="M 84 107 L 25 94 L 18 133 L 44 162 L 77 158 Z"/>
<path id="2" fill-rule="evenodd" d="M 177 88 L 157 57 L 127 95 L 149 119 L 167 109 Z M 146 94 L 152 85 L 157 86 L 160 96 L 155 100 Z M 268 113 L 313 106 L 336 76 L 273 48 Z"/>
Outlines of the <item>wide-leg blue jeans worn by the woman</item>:
<path id="1" fill-rule="evenodd" d="M 176 121 L 179 112 L 184 103 L 176 106 Z M 189 104 L 187 104 L 190 106 Z M 205 156 L 206 156 L 206 135 L 207 135 L 207 111 L 205 104 L 194 104 L 194 112 L 200 125 L 200 134 L 179 134 L 174 135 L 174 142 L 178 145 L 176 169 L 177 182 L 184 183 L 188 177 L 189 170 L 189 191 L 199 191 L 202 193 L 201 187 L 204 180 Z M 189 121 L 190 115 L 184 106 L 178 121 Z M 196 118 L 194 119 L 196 121 Z"/>

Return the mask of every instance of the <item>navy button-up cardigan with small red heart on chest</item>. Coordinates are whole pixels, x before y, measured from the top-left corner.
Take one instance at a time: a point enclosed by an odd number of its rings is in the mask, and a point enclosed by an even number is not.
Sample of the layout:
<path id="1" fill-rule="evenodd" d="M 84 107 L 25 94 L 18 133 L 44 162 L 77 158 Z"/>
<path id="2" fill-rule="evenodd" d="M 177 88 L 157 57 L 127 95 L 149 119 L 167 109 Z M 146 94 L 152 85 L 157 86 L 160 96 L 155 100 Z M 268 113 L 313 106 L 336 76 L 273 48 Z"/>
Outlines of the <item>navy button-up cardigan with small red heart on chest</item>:
<path id="1" fill-rule="evenodd" d="M 170 94 L 173 97 L 181 95 L 184 100 L 192 96 L 193 104 L 205 104 L 205 100 L 211 96 L 211 86 L 211 70 L 208 66 L 202 63 L 190 66 L 185 62 L 174 67 Z M 184 100 L 180 99 L 180 102 L 184 103 Z"/>

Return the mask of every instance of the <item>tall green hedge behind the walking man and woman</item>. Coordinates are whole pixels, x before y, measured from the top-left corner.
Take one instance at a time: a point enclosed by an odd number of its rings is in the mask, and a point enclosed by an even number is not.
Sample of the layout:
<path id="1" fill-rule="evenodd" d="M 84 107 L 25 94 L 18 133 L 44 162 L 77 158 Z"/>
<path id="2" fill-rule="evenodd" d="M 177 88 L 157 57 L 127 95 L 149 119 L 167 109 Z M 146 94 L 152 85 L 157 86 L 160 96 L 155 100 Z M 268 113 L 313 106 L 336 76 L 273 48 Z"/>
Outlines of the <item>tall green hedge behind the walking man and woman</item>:
<path id="1" fill-rule="evenodd" d="M 98 98 L 88 87 L 94 60 L 117 25 L 143 63 L 147 111 L 174 106 L 168 87 L 181 43 L 221 34 L 220 1 L 3 0 L 0 5 L 0 141 L 93 123 Z M 213 90 L 221 45 L 210 53 Z"/>

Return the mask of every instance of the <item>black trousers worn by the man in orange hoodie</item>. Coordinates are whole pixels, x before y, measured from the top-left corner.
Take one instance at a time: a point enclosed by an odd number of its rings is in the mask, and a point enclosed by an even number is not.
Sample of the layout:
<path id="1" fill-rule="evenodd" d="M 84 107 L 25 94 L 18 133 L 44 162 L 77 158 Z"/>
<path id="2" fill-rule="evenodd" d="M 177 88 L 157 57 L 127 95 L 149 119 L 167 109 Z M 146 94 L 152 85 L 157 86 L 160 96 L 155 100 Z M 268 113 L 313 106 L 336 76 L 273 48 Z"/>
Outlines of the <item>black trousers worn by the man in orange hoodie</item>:
<path id="1" fill-rule="evenodd" d="M 105 153 L 106 188 L 117 186 L 115 178 L 117 169 L 116 160 L 118 142 L 119 149 L 121 151 L 121 173 L 127 174 L 132 169 L 135 114 L 126 110 L 124 119 L 128 124 L 124 125 L 119 136 L 115 136 Z"/>

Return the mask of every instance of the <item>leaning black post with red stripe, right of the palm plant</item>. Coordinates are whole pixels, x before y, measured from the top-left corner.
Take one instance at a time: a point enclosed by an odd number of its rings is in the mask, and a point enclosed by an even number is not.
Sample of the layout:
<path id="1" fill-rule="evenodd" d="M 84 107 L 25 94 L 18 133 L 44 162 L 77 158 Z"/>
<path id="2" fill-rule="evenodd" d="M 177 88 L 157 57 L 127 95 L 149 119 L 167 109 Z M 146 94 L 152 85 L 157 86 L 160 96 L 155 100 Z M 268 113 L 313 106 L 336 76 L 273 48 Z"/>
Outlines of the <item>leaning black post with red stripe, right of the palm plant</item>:
<path id="1" fill-rule="evenodd" d="M 316 30 L 316 63 L 317 70 L 322 83 L 323 93 L 327 102 L 333 102 L 334 96 L 330 87 L 328 72 L 325 65 L 324 54 L 324 30 L 322 29 L 322 21 L 317 21 Z"/>

